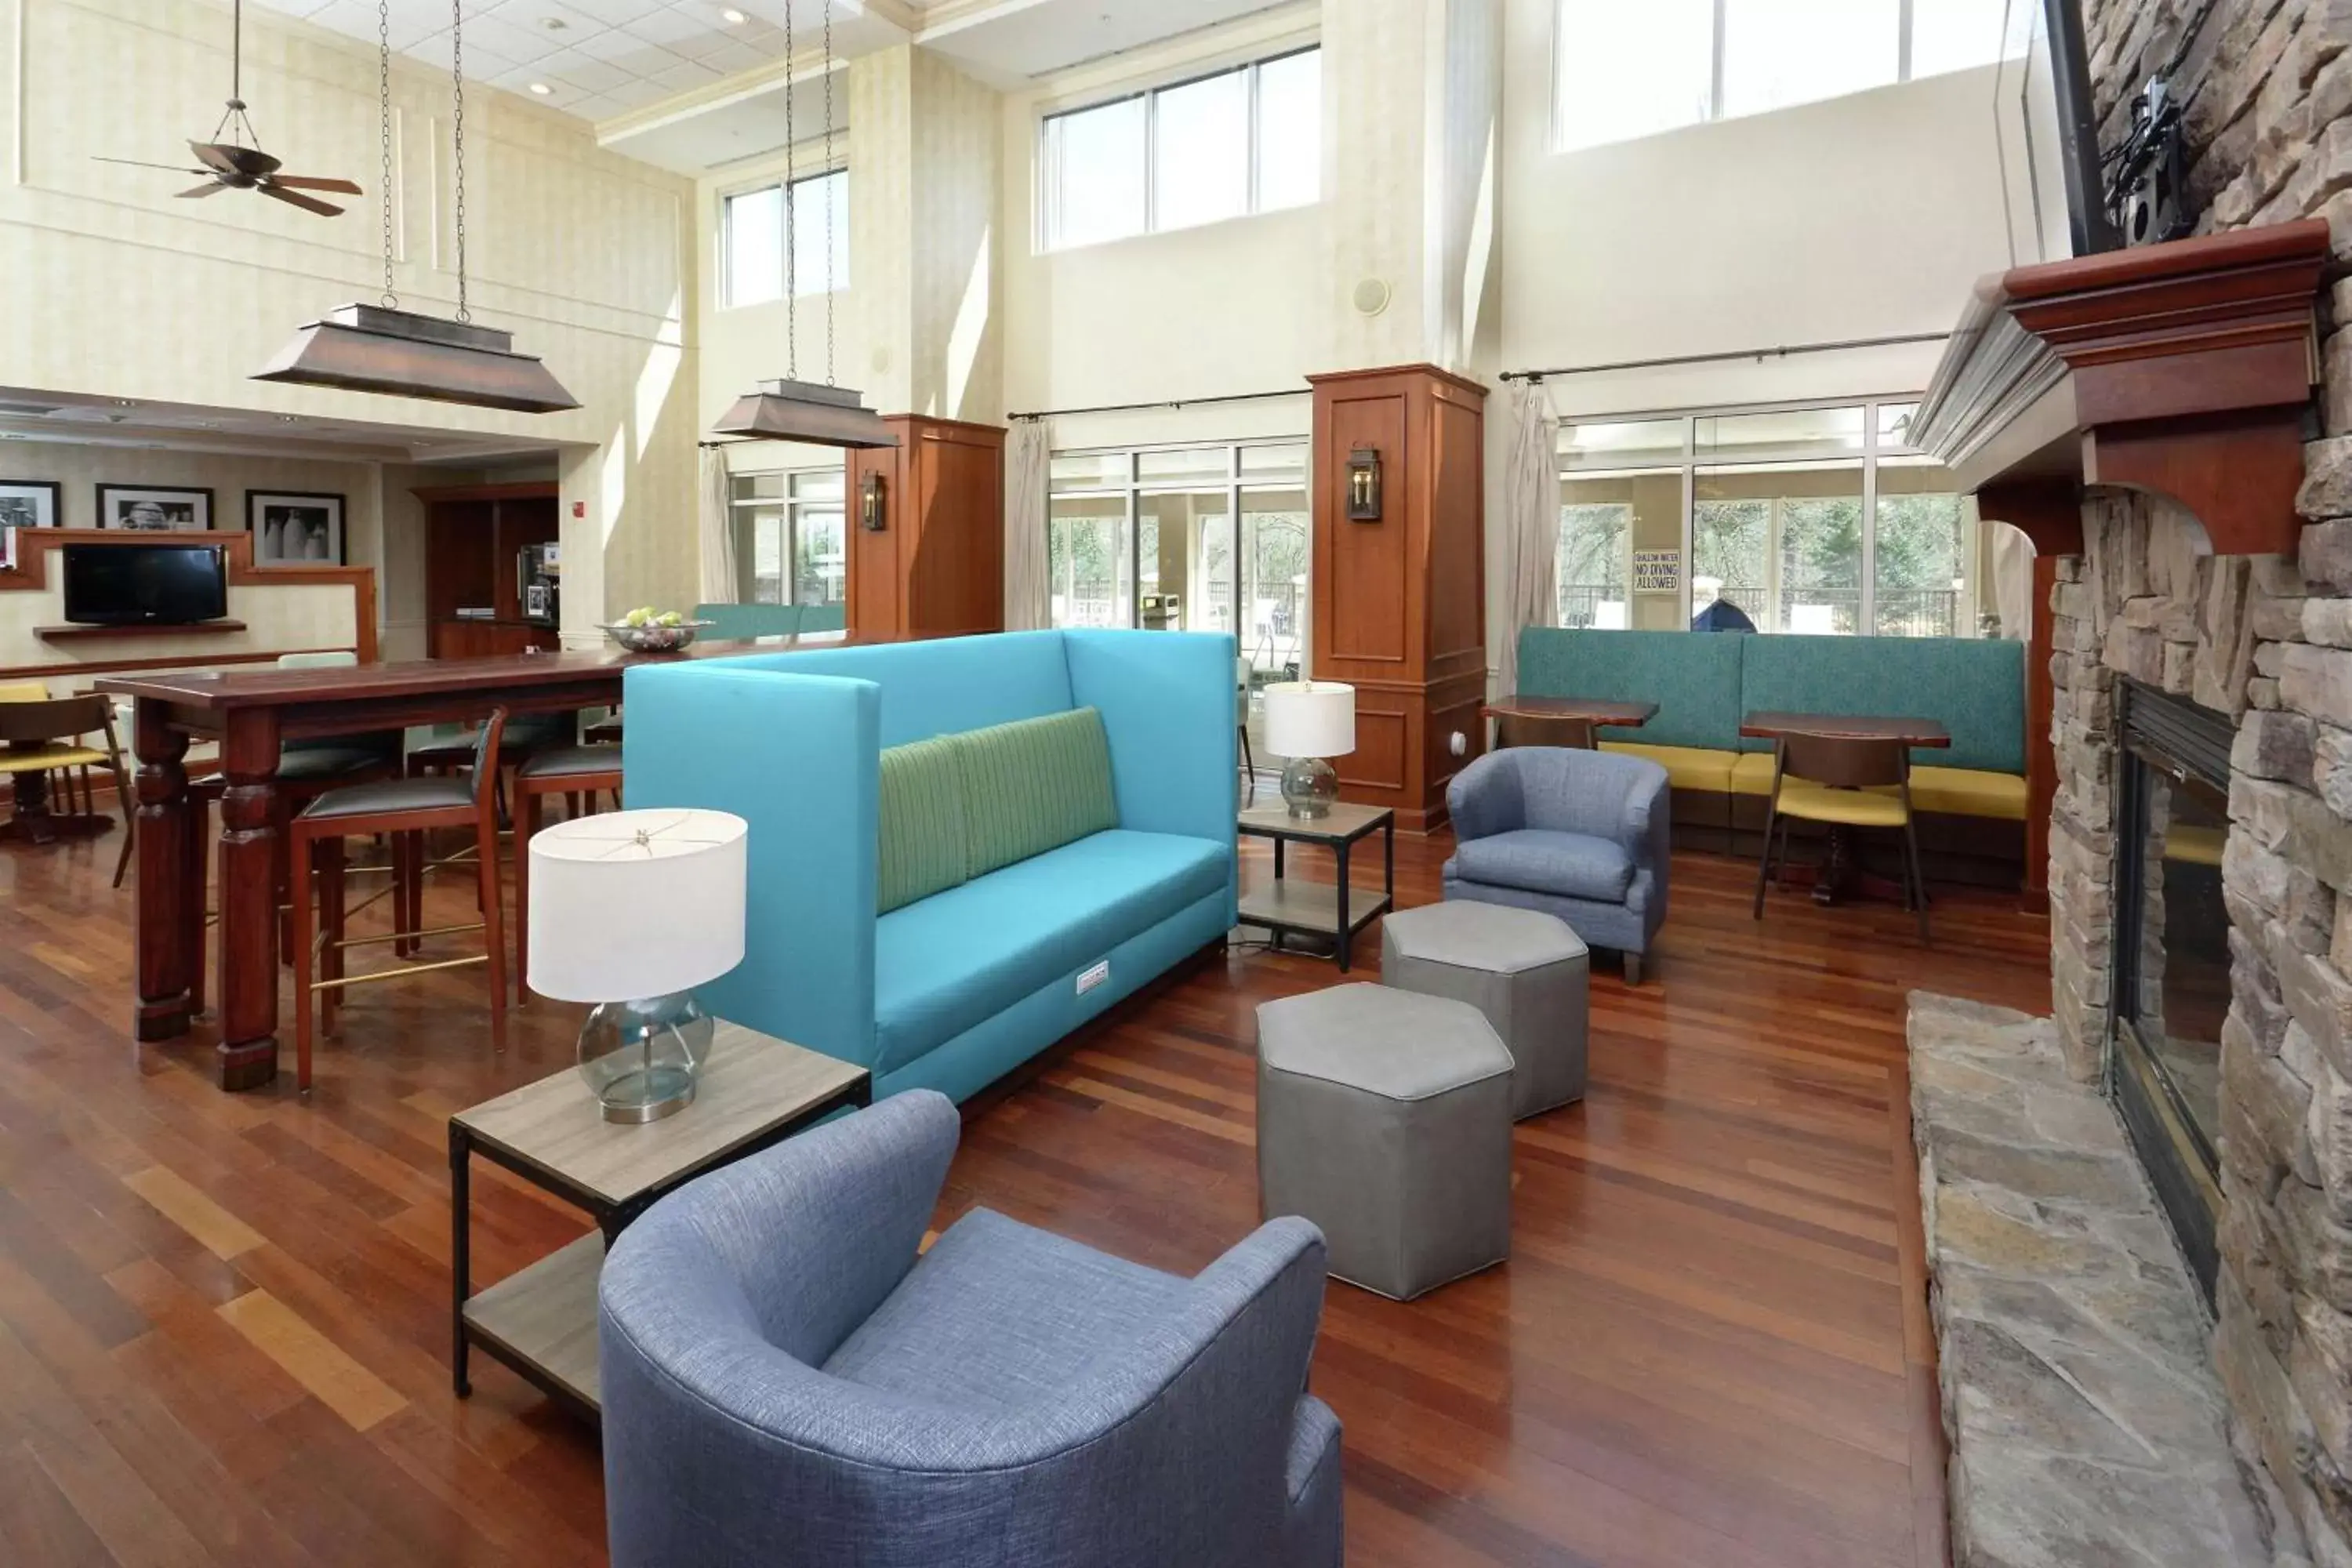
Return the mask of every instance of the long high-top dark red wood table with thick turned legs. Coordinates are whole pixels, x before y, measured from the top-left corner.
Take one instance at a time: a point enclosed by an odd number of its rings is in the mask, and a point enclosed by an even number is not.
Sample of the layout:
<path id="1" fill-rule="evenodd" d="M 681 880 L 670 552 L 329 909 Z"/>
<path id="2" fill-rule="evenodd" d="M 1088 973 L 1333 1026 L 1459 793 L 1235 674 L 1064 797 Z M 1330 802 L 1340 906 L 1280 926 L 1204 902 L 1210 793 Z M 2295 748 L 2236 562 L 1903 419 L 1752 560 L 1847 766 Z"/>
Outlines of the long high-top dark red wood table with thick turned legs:
<path id="1" fill-rule="evenodd" d="M 696 642 L 684 654 L 506 654 L 421 658 L 341 670 L 205 670 L 118 675 L 99 691 L 134 698 L 139 759 L 139 1039 L 188 1032 L 191 980 L 205 954 L 205 900 L 191 865 L 198 832 L 188 802 L 191 738 L 221 745 L 221 931 L 214 990 L 221 1088 L 259 1088 L 278 1074 L 278 748 L 318 736 L 360 736 L 409 724 L 475 722 L 492 708 L 560 712 L 614 705 L 630 665 L 677 658 L 779 654 L 797 646 L 896 642 L 894 637 L 760 637 Z"/>

